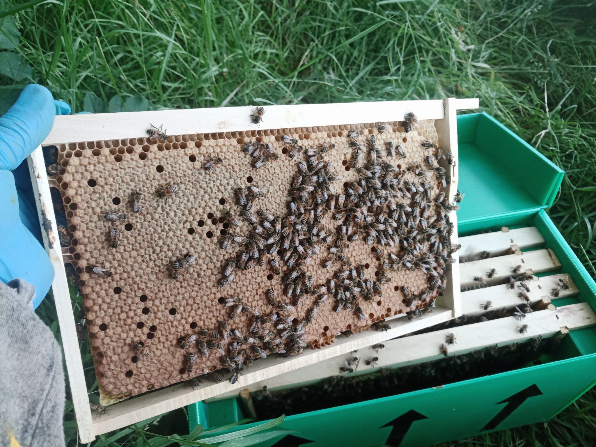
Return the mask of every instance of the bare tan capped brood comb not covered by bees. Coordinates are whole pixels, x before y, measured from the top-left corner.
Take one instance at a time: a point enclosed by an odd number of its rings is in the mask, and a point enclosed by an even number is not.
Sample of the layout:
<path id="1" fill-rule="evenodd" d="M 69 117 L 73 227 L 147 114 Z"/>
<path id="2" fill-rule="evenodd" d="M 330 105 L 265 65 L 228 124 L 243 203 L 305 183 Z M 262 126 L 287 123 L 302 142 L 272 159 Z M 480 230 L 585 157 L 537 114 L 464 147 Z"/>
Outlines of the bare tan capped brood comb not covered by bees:
<path id="1" fill-rule="evenodd" d="M 352 169 L 353 148 L 346 137 L 350 129 L 363 131 L 356 139 L 362 144 L 375 135 L 383 154 L 387 141 L 401 144 L 406 159 L 399 154 L 382 157 L 398 169 L 405 171 L 406 166 L 413 164 L 424 166 L 429 150 L 421 147 L 421 142 L 438 141 L 434 121 L 422 121 L 408 134 L 400 124 L 389 123 L 382 134 L 378 132 L 378 123 L 365 123 L 175 135 L 159 141 L 131 138 L 58 145 L 62 170 L 55 182 L 66 207 L 69 253 L 83 293 L 97 380 L 108 401 L 222 368 L 220 355 L 214 349 L 207 358 L 199 355 L 193 371 L 187 373 L 185 359 L 189 350 L 179 347 L 179 338 L 198 334 L 201 329 L 219 331 L 219 321 L 227 321 L 228 328 L 248 334 L 253 324 L 251 315 L 241 313 L 234 322 L 229 321 L 232 308 L 225 306 L 226 298 L 240 297 L 242 303 L 261 315 L 277 311 L 266 298 L 269 288 L 278 299 L 285 300 L 281 278 L 288 268 L 284 262 L 280 262 L 281 275 L 274 274 L 269 262 L 255 263 L 252 269 L 235 270 L 234 281 L 226 287 L 218 285 L 227 260 L 238 252 L 237 244 L 221 249 L 222 240 L 232 230 L 226 210 L 238 216 L 235 235 L 249 235 L 253 229 L 240 217 L 235 189 L 256 185 L 265 195 L 256 201 L 255 210 L 288 215 L 290 184 L 306 151 L 291 159 L 282 135 L 296 138 L 305 148 L 335 144 L 322 157 L 332 162 L 334 172 L 342 177 L 333 182 L 339 193 L 347 185 L 344 182 L 359 178 L 357 170 Z M 251 141 L 272 144 L 279 158 L 255 169 L 252 157 L 243 151 L 243 145 Z M 207 172 L 204 166 L 212 157 L 221 157 L 222 163 Z M 413 172 L 405 172 L 405 178 L 417 181 Z M 157 191 L 169 184 L 178 185 L 178 191 L 170 197 L 159 197 Z M 441 187 L 433 181 L 432 203 Z M 137 191 L 142 195 L 142 210 L 135 213 Z M 436 213 L 436 208 L 433 204 L 432 212 Z M 126 219 L 107 221 L 104 215 L 111 211 L 125 213 Z M 321 225 L 333 232 L 337 224 L 331 214 L 325 216 Z M 110 244 L 112 228 L 121 234 L 116 248 Z M 367 278 L 375 280 L 381 269 L 381 258 L 374 253 L 377 248 L 382 249 L 383 255 L 389 251 L 376 244 L 371 246 L 361 237 L 350 243 L 343 254 L 353 266 L 364 265 Z M 398 247 L 393 251 L 398 253 Z M 173 280 L 172 262 L 187 253 L 196 257 L 195 262 L 179 271 L 178 279 Z M 322 246 L 319 254 L 312 256 L 312 265 L 303 267 L 314 278 L 315 286 L 327 284 L 328 278 L 343 268 L 340 262 L 333 268 L 322 268 L 327 256 L 329 252 Z M 95 275 L 94 266 L 105 266 L 113 274 Z M 354 312 L 334 312 L 337 300 L 330 294 L 305 327 L 309 346 L 325 346 L 341 331 L 361 330 L 380 319 L 411 311 L 404 304 L 400 287 L 407 285 L 412 293 L 421 293 L 428 287 L 429 275 L 420 269 L 392 270 L 387 276 L 390 282 L 383 285 L 382 297 L 360 303 L 365 316 L 362 322 Z M 429 299 L 435 296 L 436 291 Z M 302 305 L 284 312 L 284 316 L 292 316 L 296 324 L 305 318 L 316 299 L 317 296 L 306 294 Z M 139 342 L 145 344 L 149 355 L 137 355 L 132 346 Z"/>

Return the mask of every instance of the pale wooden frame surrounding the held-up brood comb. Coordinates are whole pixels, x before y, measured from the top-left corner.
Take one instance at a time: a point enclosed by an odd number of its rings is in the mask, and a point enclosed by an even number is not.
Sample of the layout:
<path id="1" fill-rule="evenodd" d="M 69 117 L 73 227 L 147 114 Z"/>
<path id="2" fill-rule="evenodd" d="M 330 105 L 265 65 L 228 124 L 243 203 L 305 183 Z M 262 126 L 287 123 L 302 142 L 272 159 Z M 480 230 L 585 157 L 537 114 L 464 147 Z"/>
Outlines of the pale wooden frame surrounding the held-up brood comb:
<path id="1" fill-rule="evenodd" d="M 457 110 L 479 107 L 477 98 L 456 100 L 425 101 L 386 101 L 377 103 L 312 104 L 312 105 L 275 105 L 267 107 L 267 120 L 259 129 L 300 128 L 308 126 L 330 126 L 346 123 L 388 122 L 403 120 L 405 113 L 413 111 L 418 119 L 434 119 L 440 145 L 443 151 L 451 151 L 455 160 L 457 154 Z M 202 108 L 191 110 L 164 110 L 131 113 L 83 114 L 75 116 L 57 116 L 54 128 L 42 145 L 61 144 L 79 141 L 135 138 L 147 135 L 148 124 L 164 123 L 168 134 L 184 135 L 196 132 L 229 132 L 243 129 L 256 129 L 250 122 L 248 107 Z M 200 123 L 200 124 L 197 124 Z M 198 129 L 200 128 L 200 129 Z M 422 327 L 437 324 L 461 315 L 460 281 L 458 255 L 453 256 L 456 263 L 446 271 L 448 286 L 443 291 L 443 303 L 434 312 L 423 318 L 407 322 L 405 318 L 392 321 L 392 329 L 386 332 L 365 331 L 349 339 L 340 337 L 333 346 L 320 350 L 309 350 L 303 355 L 290 358 L 268 358 L 254 365 L 240 376 L 234 385 L 229 382 L 209 383 L 192 389 L 184 383 L 146 393 L 136 398 L 115 403 L 110 406 L 107 415 L 94 419 L 89 408 L 89 398 L 83 374 L 79 343 L 75 329 L 70 294 L 67 283 L 64 260 L 58 243 L 57 224 L 52 206 L 48 176 L 45 170 L 41 146 L 36 148 L 27 159 L 33 183 L 33 190 L 38 206 L 40 222 L 48 219 L 49 231 L 43 231 L 44 246 L 54 265 L 55 277 L 52 283 L 55 305 L 63 340 L 66 367 L 69 373 L 70 389 L 80 442 L 88 443 L 95 436 L 129 426 L 149 417 L 181 408 L 185 405 L 212 398 L 234 389 L 243 389 L 251 383 L 283 374 L 296 368 L 311 365 L 334 356 L 342 355 L 373 343 L 398 337 Z M 458 166 L 452 166 L 451 184 L 446 194 L 452 201 L 457 191 Z M 449 214 L 455 226 L 451 243 L 457 244 L 457 217 Z M 50 249 L 49 247 L 52 246 Z"/>

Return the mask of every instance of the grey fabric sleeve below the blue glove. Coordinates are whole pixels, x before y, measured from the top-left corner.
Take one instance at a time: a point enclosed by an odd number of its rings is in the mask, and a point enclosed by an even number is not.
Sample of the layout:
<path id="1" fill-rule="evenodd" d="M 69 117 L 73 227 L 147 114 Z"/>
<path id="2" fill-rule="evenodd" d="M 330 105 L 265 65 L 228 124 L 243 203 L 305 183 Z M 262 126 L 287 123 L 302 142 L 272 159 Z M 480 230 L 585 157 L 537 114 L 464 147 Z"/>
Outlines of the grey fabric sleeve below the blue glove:
<path id="1" fill-rule="evenodd" d="M 52 331 L 33 311 L 35 288 L 0 283 L 0 447 L 64 446 L 64 371 Z"/>

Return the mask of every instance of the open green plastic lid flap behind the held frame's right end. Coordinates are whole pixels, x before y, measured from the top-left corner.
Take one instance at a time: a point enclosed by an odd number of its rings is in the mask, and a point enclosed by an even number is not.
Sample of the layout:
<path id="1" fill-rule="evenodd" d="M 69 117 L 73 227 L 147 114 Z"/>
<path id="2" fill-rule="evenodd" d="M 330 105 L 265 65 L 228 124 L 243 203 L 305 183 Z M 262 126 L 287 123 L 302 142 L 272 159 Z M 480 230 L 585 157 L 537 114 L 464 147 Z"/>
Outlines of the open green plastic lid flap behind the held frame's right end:
<path id="1" fill-rule="evenodd" d="M 492 116 L 458 116 L 457 136 L 460 225 L 552 206 L 563 170 Z"/>

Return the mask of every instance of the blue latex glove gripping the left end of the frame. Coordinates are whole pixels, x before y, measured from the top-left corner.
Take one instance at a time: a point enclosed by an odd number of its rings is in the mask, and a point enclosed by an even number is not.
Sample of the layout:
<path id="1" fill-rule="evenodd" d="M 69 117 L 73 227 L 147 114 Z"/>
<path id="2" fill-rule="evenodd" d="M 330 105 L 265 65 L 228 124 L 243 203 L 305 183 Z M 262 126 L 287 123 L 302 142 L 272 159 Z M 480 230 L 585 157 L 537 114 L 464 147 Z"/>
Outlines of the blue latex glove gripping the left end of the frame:
<path id="1" fill-rule="evenodd" d="M 13 107 L 0 117 L 0 281 L 8 283 L 22 278 L 35 286 L 36 308 L 48 293 L 54 279 L 54 268 L 38 240 L 24 225 L 39 228 L 35 203 L 19 201 L 17 179 L 23 177 L 26 157 L 44 141 L 54 125 L 56 114 L 69 114 L 70 107 L 54 101 L 48 89 L 41 85 L 27 85 Z M 26 163 L 26 161 L 25 161 Z M 22 216 L 22 219 L 21 219 Z M 35 218 L 36 222 L 31 222 Z"/>

